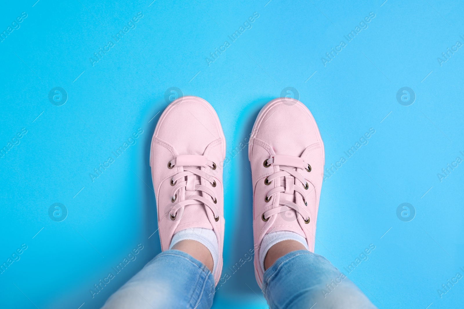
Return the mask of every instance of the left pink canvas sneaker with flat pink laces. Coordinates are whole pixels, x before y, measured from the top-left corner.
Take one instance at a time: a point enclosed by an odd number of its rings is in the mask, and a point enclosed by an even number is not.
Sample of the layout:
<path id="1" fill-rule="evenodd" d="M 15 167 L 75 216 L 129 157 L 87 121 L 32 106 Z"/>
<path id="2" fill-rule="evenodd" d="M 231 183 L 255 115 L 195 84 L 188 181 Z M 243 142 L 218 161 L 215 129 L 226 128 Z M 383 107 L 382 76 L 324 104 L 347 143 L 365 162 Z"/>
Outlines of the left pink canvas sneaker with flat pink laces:
<path id="1" fill-rule="evenodd" d="M 226 139 L 218 115 L 208 102 L 185 96 L 166 107 L 150 149 L 161 250 L 168 250 L 174 233 L 181 230 L 214 230 L 219 246 L 213 273 L 216 284 L 223 261 L 225 157 Z"/>

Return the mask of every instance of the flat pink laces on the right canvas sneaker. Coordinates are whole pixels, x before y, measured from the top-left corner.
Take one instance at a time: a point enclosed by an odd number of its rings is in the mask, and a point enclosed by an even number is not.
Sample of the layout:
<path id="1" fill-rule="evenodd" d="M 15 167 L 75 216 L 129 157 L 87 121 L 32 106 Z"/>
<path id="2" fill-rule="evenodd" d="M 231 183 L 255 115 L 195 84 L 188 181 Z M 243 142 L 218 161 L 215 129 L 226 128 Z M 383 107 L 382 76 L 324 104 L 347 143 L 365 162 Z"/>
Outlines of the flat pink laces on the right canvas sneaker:
<path id="1" fill-rule="evenodd" d="M 270 202 L 273 196 L 276 195 L 277 193 L 285 192 L 285 193 L 291 193 L 295 195 L 296 193 L 298 193 L 298 195 L 296 195 L 295 197 L 295 201 L 299 203 L 288 201 L 282 197 L 279 197 L 278 204 L 280 206 L 275 207 L 275 208 L 270 208 L 264 211 L 264 213 L 261 216 L 261 219 L 263 221 L 268 221 L 269 218 L 271 218 L 271 216 L 273 215 L 284 213 L 290 209 L 293 209 L 296 211 L 296 215 L 297 216 L 298 214 L 301 215 L 303 217 L 304 223 L 308 224 L 310 220 L 309 211 L 307 210 L 306 207 L 303 207 L 302 205 L 304 203 L 304 206 L 308 206 L 306 197 L 312 192 L 313 188 L 311 190 L 308 190 L 309 189 L 308 181 L 303 177 L 302 174 L 300 174 L 297 170 L 295 170 L 295 168 L 303 169 L 303 170 L 306 170 L 307 172 L 310 172 L 311 165 L 304 162 L 303 158 L 293 157 L 293 156 L 284 156 L 284 155 L 271 155 L 271 158 L 264 160 L 263 165 L 266 168 L 270 166 L 274 166 L 274 165 L 279 166 L 278 171 L 272 173 L 270 176 L 264 179 L 265 185 L 270 185 L 276 179 L 279 179 L 282 177 L 285 178 L 285 186 L 281 185 L 281 186 L 271 189 L 267 193 L 264 199 L 265 202 Z M 288 181 L 292 179 L 291 177 L 294 177 L 297 180 L 298 184 Z"/>

